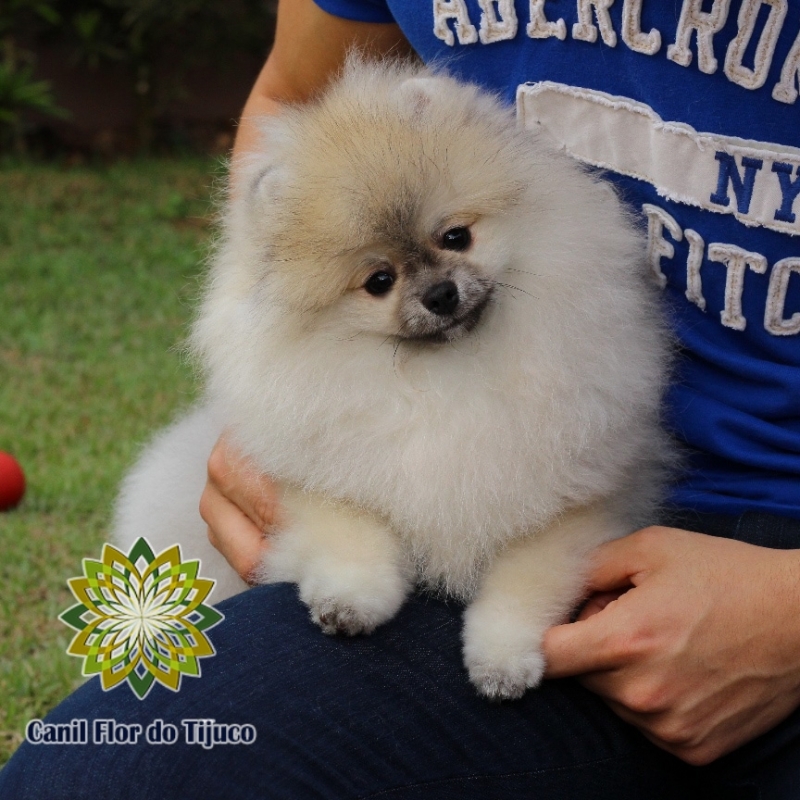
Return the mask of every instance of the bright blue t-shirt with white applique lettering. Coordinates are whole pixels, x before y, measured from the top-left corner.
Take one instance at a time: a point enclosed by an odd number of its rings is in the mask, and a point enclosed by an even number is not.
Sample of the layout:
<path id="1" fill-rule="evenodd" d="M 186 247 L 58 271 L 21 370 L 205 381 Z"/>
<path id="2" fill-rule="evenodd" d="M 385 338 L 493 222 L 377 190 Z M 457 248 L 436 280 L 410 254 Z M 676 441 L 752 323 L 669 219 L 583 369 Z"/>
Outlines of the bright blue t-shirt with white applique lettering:
<path id="1" fill-rule="evenodd" d="M 317 2 L 608 171 L 682 344 L 673 501 L 800 518 L 800 0 Z"/>

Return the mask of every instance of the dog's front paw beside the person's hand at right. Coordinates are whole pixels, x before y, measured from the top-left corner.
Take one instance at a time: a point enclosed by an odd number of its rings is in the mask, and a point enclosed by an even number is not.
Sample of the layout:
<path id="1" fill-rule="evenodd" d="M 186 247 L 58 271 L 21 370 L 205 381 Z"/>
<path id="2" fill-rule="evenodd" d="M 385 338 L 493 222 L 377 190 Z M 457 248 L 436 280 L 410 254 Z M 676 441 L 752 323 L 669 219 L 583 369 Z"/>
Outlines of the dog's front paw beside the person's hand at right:
<path id="1" fill-rule="evenodd" d="M 489 700 L 517 700 L 541 683 L 542 633 L 510 609 L 473 603 L 464 615 L 464 664 Z"/>

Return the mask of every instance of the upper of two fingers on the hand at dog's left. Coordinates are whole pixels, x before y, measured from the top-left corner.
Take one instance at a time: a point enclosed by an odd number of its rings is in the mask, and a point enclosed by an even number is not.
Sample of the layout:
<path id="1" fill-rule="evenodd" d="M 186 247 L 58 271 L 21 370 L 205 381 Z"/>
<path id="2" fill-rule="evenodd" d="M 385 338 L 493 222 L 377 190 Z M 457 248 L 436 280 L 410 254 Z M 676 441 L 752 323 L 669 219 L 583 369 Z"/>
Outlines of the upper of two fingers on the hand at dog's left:
<path id="1" fill-rule="evenodd" d="M 249 458 L 239 453 L 225 434 L 214 445 L 208 459 L 208 480 L 260 531 L 278 523 L 279 497 L 275 485 Z"/>

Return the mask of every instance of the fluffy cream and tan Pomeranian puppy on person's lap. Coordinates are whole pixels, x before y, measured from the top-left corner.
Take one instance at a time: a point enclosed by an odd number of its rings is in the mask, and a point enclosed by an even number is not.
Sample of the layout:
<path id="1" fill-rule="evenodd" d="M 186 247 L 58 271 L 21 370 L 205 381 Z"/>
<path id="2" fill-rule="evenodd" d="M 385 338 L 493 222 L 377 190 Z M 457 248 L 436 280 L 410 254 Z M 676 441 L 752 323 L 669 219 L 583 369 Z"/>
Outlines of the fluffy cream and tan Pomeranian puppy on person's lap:
<path id="1" fill-rule="evenodd" d="M 227 428 L 282 491 L 256 581 L 350 635 L 445 592 L 478 691 L 519 697 L 669 460 L 643 237 L 495 97 L 419 66 L 353 58 L 263 131 L 193 332 L 205 402 L 127 478 L 116 539 L 179 542 L 215 599 L 245 589 L 197 511 Z"/>

